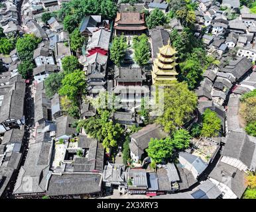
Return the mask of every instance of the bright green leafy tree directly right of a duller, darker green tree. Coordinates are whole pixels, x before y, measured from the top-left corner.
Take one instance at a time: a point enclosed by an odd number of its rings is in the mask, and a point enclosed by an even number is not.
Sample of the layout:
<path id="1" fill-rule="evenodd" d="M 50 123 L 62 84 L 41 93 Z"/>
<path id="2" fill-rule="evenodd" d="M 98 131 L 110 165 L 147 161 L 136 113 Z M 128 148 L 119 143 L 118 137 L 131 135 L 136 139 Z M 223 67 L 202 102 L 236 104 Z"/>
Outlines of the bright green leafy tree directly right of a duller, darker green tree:
<path id="1" fill-rule="evenodd" d="M 71 101 L 77 101 L 86 93 L 86 79 L 84 72 L 75 70 L 70 74 L 66 74 L 62 79 L 62 87 L 59 89 L 60 95 L 66 95 Z"/>

